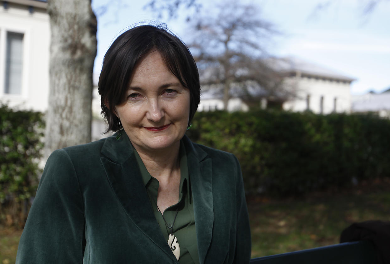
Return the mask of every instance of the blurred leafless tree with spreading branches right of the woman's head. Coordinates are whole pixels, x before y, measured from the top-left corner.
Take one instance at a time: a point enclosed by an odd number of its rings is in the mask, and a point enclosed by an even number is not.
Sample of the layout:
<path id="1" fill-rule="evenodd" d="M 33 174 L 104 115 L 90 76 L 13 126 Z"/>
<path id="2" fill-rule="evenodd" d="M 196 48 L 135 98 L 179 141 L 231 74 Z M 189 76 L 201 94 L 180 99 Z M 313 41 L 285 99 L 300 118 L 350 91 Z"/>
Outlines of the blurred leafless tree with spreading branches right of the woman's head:
<path id="1" fill-rule="evenodd" d="M 197 62 L 202 89 L 223 93 L 224 108 L 230 97 L 245 100 L 278 95 L 282 76 L 268 67 L 265 43 L 280 34 L 259 17 L 254 5 L 228 2 L 214 16 L 202 16 L 191 27 L 189 44 Z M 283 93 L 284 94 L 284 93 Z M 284 96 L 284 95 L 283 95 Z"/>

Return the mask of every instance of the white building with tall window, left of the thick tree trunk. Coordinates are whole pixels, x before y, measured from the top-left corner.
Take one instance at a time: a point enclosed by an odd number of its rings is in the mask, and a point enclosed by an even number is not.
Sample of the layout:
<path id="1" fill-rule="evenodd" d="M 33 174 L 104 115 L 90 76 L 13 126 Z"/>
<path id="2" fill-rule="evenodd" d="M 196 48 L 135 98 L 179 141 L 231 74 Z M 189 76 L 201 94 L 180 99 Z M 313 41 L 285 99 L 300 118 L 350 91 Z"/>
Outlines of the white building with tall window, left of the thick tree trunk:
<path id="1" fill-rule="evenodd" d="M 0 102 L 45 111 L 50 23 L 46 1 L 7 0 L 0 6 Z"/>

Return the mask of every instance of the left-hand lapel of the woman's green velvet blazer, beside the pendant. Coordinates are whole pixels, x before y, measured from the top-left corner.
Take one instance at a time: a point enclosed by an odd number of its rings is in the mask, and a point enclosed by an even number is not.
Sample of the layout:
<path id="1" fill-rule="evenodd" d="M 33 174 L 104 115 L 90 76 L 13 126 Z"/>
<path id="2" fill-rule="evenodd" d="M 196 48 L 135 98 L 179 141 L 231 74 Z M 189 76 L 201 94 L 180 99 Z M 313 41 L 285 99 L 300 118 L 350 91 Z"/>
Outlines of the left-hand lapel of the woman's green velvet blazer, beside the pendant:
<path id="1" fill-rule="evenodd" d="M 101 150 L 104 156 L 100 160 L 107 179 L 130 220 L 176 262 L 150 203 L 145 202 L 149 198 L 129 138 L 124 131 L 119 140 L 115 136 L 107 138 Z"/>

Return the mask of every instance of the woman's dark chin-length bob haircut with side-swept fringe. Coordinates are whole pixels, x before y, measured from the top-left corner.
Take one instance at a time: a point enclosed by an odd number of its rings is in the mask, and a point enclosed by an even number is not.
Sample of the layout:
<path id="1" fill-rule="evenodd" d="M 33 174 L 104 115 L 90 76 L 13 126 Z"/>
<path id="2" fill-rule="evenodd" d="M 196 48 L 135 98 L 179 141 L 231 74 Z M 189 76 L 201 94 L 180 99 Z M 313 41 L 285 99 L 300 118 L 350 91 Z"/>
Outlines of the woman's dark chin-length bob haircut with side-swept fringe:
<path id="1" fill-rule="evenodd" d="M 138 60 L 154 50 L 161 54 L 165 65 L 181 85 L 190 90 L 190 124 L 200 101 L 199 73 L 195 60 L 187 46 L 165 24 L 142 25 L 121 34 L 104 56 L 99 94 L 101 113 L 108 124 L 106 133 L 121 129 L 114 113 L 115 106 L 123 102 Z"/>

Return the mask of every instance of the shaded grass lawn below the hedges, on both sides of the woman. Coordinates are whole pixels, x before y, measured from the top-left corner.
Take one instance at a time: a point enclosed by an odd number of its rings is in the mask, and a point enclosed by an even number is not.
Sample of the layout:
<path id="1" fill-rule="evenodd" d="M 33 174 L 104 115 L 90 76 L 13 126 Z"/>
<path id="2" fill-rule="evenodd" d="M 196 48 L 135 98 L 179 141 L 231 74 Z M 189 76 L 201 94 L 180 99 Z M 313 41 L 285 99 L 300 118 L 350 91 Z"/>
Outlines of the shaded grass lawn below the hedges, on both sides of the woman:
<path id="1" fill-rule="evenodd" d="M 339 243 L 353 222 L 390 218 L 390 182 L 305 199 L 249 198 L 252 258 Z M 14 264 L 21 230 L 0 227 L 0 264 Z"/>

